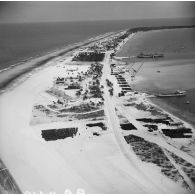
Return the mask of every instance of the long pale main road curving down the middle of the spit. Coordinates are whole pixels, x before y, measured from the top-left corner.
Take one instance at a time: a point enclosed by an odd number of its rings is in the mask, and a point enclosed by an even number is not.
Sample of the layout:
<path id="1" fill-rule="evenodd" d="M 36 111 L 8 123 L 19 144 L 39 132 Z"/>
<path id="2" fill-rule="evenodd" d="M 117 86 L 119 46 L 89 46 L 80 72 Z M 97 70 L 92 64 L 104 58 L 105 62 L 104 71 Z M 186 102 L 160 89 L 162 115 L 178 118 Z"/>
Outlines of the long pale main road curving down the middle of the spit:
<path id="1" fill-rule="evenodd" d="M 111 52 L 106 53 L 105 60 L 103 62 L 104 67 L 103 67 L 102 81 L 104 82 L 104 86 L 106 86 L 106 78 L 110 74 L 110 64 L 109 64 L 110 53 Z M 166 189 L 163 189 L 162 187 L 157 186 L 155 183 L 153 183 L 148 177 L 146 177 L 144 172 L 136 164 L 135 154 L 131 152 L 129 145 L 125 143 L 124 137 L 119 131 L 120 128 L 119 120 L 118 117 L 116 116 L 115 106 L 113 104 L 112 98 L 108 93 L 107 87 L 104 87 L 104 99 L 105 99 L 105 114 L 108 117 L 109 127 L 113 131 L 113 134 L 116 139 L 116 143 L 119 146 L 121 154 L 124 155 L 129 165 L 131 166 L 130 170 L 132 171 L 132 168 L 134 170 L 134 172 L 132 172 L 132 177 L 135 178 L 140 183 L 140 187 L 144 188 L 146 192 L 166 193 Z"/>

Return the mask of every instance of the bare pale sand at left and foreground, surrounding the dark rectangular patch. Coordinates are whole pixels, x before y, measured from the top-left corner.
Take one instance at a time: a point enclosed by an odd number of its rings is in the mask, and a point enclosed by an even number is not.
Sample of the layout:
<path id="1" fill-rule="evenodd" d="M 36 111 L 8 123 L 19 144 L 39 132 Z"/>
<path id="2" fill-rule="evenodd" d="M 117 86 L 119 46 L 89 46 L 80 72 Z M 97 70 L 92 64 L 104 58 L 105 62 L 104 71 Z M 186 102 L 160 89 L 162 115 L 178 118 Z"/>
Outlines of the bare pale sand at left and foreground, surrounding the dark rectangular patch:
<path id="1" fill-rule="evenodd" d="M 107 71 L 104 70 L 104 79 Z M 83 123 L 30 126 L 34 98 L 52 86 L 57 75 L 56 66 L 48 66 L 0 96 L 0 154 L 22 192 L 187 192 L 157 168 L 140 164 L 124 139 L 121 142 L 117 138 L 112 113 L 108 132 L 97 139 L 88 139 Z M 113 110 L 109 99 L 106 102 L 108 114 Z M 79 127 L 81 136 L 55 142 L 41 138 L 42 128 L 70 126 Z"/>

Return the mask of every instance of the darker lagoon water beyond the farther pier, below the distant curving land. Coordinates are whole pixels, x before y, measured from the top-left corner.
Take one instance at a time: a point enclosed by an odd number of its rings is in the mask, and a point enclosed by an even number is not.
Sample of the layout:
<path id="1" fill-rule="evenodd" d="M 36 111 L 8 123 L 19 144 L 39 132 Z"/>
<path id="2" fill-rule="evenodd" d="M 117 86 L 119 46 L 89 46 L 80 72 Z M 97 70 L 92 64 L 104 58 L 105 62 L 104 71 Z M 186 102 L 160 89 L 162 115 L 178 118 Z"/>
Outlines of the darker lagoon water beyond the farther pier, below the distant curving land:
<path id="1" fill-rule="evenodd" d="M 118 56 L 137 56 L 143 53 L 163 53 L 167 58 L 184 57 L 195 51 L 195 28 L 138 32 Z"/>

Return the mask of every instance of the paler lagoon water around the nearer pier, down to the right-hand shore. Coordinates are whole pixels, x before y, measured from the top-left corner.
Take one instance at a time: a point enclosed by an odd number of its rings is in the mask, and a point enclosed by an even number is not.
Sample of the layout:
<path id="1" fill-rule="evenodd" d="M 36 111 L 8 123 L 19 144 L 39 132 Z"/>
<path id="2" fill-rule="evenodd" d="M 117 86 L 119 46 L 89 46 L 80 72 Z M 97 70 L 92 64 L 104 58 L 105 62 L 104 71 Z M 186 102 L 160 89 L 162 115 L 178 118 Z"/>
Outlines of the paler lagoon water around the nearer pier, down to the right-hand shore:
<path id="1" fill-rule="evenodd" d="M 149 94 L 167 94 L 178 89 L 186 90 L 186 96 L 151 98 L 151 100 L 195 126 L 194 75 L 195 59 L 147 62 L 137 74 L 134 88 Z M 186 104 L 187 101 L 190 101 L 190 104 Z"/>

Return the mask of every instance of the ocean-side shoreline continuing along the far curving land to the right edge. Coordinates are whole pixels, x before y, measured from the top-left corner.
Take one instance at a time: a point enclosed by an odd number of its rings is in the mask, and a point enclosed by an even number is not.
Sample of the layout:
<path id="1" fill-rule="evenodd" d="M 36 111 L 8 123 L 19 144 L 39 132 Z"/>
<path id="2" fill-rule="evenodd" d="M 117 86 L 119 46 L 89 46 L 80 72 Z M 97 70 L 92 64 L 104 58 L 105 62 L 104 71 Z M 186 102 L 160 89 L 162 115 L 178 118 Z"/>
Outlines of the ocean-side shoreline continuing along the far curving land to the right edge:
<path id="1" fill-rule="evenodd" d="M 104 39 L 104 38 L 109 37 L 111 35 L 117 34 L 119 32 L 126 31 L 127 33 L 129 33 L 129 36 L 130 36 L 132 34 L 136 34 L 137 32 L 146 32 L 146 31 L 164 30 L 164 29 L 179 29 L 179 28 L 181 28 L 181 29 L 182 28 L 195 28 L 195 25 L 160 26 L 160 27 L 151 26 L 151 27 L 127 28 L 127 29 L 124 29 L 124 30 L 119 30 L 119 31 L 115 31 L 115 32 L 108 32 L 108 33 L 105 33 L 105 34 L 100 34 L 100 35 L 97 35 L 97 36 L 94 36 L 94 37 L 90 37 L 86 40 L 67 45 L 67 46 L 62 47 L 62 48 L 54 49 L 53 51 L 43 52 L 40 55 L 35 55 L 33 57 L 23 59 L 20 62 L 17 62 L 16 64 L 11 65 L 10 68 L 8 67 L 8 68 L 0 70 L 0 91 L 4 92 L 6 87 L 10 83 L 12 83 L 14 80 L 18 79 L 19 77 L 21 77 L 24 74 L 27 74 L 27 73 L 31 72 L 35 68 L 42 66 L 43 64 L 49 62 L 50 60 L 52 60 L 56 57 L 59 57 L 59 56 L 65 54 L 65 53 L 68 53 L 68 52 L 71 52 L 75 49 L 78 49 L 81 46 L 85 46 L 85 45 L 93 43 L 97 40 L 101 40 L 101 39 Z M 125 43 L 128 42 L 129 36 L 128 36 L 127 41 L 125 41 Z M 124 45 L 125 44 L 123 44 L 122 47 Z M 119 52 L 122 49 L 122 47 L 120 47 L 117 52 Z M 41 59 L 41 58 L 43 58 L 43 59 Z M 38 61 L 36 62 L 36 60 L 38 60 Z M 25 67 L 26 63 L 31 63 L 31 65 L 29 67 Z M 21 68 L 23 68 L 24 70 L 21 71 L 20 70 Z M 18 69 L 19 69 L 19 72 L 17 72 Z"/>

